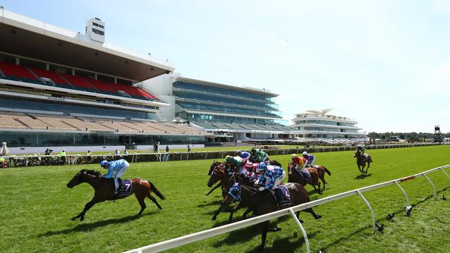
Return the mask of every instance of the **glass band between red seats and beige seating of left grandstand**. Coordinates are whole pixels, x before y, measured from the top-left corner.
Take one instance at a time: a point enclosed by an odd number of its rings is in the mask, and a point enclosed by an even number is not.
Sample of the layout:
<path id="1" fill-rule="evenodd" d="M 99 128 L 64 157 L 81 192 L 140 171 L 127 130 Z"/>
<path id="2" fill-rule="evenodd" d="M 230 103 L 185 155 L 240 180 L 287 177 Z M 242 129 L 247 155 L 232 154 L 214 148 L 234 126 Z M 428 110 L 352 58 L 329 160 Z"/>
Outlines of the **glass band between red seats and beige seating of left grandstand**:
<path id="1" fill-rule="evenodd" d="M 91 115 L 107 115 L 114 117 L 141 118 L 150 120 L 154 120 L 155 118 L 155 113 L 149 113 L 145 111 L 129 111 L 123 109 L 101 108 L 89 105 L 62 104 L 61 102 L 53 102 L 53 101 L 46 102 L 36 100 L 24 100 L 21 98 L 13 98 L 13 97 L 0 97 L 0 107 L 42 110 L 42 111 L 57 111 L 63 112 L 66 115 L 69 115 L 69 113 L 84 113 Z"/>

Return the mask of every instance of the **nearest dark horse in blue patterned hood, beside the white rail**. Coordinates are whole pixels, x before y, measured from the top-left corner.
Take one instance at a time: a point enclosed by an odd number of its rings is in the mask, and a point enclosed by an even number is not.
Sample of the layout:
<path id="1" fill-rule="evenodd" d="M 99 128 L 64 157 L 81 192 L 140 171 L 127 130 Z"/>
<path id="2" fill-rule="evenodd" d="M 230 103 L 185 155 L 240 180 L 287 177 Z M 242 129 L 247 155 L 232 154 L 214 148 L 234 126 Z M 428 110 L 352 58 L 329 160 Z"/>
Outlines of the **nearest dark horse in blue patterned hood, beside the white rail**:
<path id="1" fill-rule="evenodd" d="M 282 207 L 282 209 L 309 202 L 309 197 L 307 195 L 305 187 L 303 187 L 302 185 L 295 182 L 288 182 L 284 186 L 287 187 L 289 191 L 289 196 L 291 197 L 291 205 L 286 205 L 285 207 Z M 258 188 L 244 185 L 241 182 L 238 182 L 233 185 L 233 187 L 231 187 L 226 198 L 224 199 L 224 201 L 222 201 L 221 208 L 224 209 L 225 207 L 230 205 L 230 203 L 233 202 L 233 200 L 235 200 L 237 196 L 240 196 L 241 203 L 244 203 L 244 205 L 248 206 L 249 209 L 253 210 L 253 214 L 255 214 L 255 216 L 268 214 L 270 212 L 275 212 L 278 210 L 276 200 L 270 191 L 259 191 Z M 309 212 L 310 214 L 312 214 L 312 216 L 314 216 L 314 218 L 316 218 L 316 220 L 322 218 L 322 216 L 314 212 L 312 207 L 304 209 L 303 212 Z M 300 211 L 296 212 L 297 218 L 301 223 L 303 223 L 303 221 L 299 218 L 299 215 Z M 267 232 L 276 232 L 279 230 L 281 230 L 279 227 L 269 229 L 269 221 L 264 221 L 262 223 L 260 250 L 264 250 Z"/>

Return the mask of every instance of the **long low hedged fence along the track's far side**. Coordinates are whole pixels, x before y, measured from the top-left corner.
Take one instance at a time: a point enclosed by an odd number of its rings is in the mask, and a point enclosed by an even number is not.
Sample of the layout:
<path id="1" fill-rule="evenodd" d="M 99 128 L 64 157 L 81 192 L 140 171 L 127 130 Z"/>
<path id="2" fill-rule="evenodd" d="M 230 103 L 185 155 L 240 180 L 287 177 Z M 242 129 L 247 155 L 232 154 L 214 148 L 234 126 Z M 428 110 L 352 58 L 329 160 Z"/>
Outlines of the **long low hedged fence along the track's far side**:
<path id="1" fill-rule="evenodd" d="M 379 144 L 370 145 L 366 149 L 392 149 L 401 147 L 425 147 L 435 146 L 438 143 L 415 143 L 415 144 Z M 312 148 L 294 148 L 294 149 L 268 149 L 269 156 L 286 155 L 289 153 L 309 153 L 334 152 L 334 151 L 352 151 L 355 147 L 312 147 Z M 174 153 L 129 153 L 120 156 L 128 162 L 163 162 L 178 160 L 206 160 L 223 159 L 225 156 L 235 156 L 234 151 L 201 151 L 201 152 L 174 152 Z M 66 155 L 66 156 L 5 156 L 9 167 L 30 167 L 30 166 L 49 166 L 49 165 L 82 165 L 96 164 L 101 160 L 114 160 L 118 158 L 114 154 L 108 155 Z"/>

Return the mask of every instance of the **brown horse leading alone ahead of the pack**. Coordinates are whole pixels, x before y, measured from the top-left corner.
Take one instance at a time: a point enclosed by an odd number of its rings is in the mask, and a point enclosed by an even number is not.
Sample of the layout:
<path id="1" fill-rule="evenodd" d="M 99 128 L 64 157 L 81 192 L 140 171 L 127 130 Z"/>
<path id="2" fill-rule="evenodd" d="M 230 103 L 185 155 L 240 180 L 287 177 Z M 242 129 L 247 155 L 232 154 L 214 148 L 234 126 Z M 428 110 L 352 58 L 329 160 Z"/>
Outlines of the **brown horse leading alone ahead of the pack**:
<path id="1" fill-rule="evenodd" d="M 146 205 L 145 205 L 145 197 L 150 198 L 150 200 L 153 201 L 153 203 L 156 204 L 156 206 L 159 209 L 163 209 L 161 205 L 159 205 L 158 201 L 156 201 L 156 198 L 154 198 L 150 193 L 153 191 L 156 196 L 159 196 L 162 200 L 165 199 L 163 194 L 154 187 L 152 182 L 141 179 L 141 178 L 132 178 L 132 192 L 129 195 L 118 195 L 114 194 L 114 182 L 112 179 L 109 178 L 102 178 L 100 172 L 93 171 L 93 170 L 87 170 L 82 169 L 80 170 L 75 176 L 67 183 L 67 187 L 73 188 L 75 185 L 80 185 L 82 182 L 87 182 L 91 187 L 94 189 L 93 198 L 91 201 L 86 203 L 84 205 L 84 209 L 80 214 L 77 216 L 74 216 L 71 218 L 72 221 L 75 221 L 77 218 L 80 218 L 80 221 L 84 220 L 84 214 L 93 207 L 93 205 L 96 205 L 96 203 L 103 202 L 105 200 L 116 200 L 120 198 L 127 198 L 127 196 L 131 196 L 132 194 L 135 194 L 136 199 L 139 202 L 139 205 L 141 205 L 141 211 L 138 213 L 138 216 L 142 214 L 144 211 Z"/>

